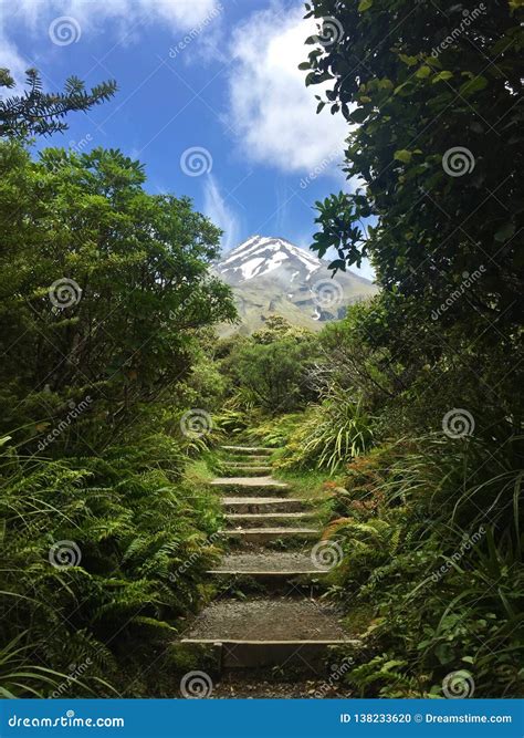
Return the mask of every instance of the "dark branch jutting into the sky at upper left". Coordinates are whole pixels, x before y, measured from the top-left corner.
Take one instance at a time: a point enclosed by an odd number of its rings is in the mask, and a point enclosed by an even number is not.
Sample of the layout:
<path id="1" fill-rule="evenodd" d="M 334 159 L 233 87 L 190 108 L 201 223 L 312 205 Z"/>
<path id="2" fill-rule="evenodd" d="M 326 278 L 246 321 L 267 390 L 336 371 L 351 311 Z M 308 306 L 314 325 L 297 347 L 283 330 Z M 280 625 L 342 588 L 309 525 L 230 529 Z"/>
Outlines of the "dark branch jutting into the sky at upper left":
<path id="1" fill-rule="evenodd" d="M 94 105 L 109 100 L 116 92 L 116 82 L 102 82 L 86 91 L 84 82 L 70 76 L 63 92 L 42 91 L 42 79 L 35 69 L 29 69 L 28 89 L 21 95 L 0 100 L 0 136 L 25 137 L 50 135 L 65 131 L 64 121 L 72 111 L 88 111 Z M 12 90 L 14 80 L 7 69 L 0 69 L 0 89 Z"/>

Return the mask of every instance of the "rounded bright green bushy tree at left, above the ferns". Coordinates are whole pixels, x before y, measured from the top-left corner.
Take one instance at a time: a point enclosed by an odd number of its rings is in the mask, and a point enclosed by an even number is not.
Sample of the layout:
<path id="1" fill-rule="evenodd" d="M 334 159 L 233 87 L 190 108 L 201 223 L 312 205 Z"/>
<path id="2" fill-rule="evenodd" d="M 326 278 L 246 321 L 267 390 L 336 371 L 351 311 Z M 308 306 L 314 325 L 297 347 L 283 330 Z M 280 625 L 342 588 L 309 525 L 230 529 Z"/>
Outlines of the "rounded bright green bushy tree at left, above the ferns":
<path id="1" fill-rule="evenodd" d="M 34 163 L 6 143 L 0 170 L 8 429 L 35 417 L 31 402 L 52 408 L 90 389 L 109 418 L 125 415 L 188 372 L 199 328 L 234 316 L 208 273 L 220 231 L 188 198 L 147 194 L 137 162 L 51 148 Z"/>

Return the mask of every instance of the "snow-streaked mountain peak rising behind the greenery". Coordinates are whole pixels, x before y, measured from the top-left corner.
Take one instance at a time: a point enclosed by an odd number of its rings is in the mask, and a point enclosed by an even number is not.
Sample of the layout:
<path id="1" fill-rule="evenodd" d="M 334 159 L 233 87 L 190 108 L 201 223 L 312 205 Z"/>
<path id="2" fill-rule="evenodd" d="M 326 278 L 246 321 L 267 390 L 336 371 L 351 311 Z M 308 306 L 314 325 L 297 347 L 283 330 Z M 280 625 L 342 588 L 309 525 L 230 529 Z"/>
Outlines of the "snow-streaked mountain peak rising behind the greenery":
<path id="1" fill-rule="evenodd" d="M 285 238 L 252 236 L 213 271 L 233 289 L 242 331 L 255 330 L 271 314 L 318 330 L 322 323 L 342 318 L 352 302 L 377 291 L 350 271 L 332 279 L 327 263 Z"/>

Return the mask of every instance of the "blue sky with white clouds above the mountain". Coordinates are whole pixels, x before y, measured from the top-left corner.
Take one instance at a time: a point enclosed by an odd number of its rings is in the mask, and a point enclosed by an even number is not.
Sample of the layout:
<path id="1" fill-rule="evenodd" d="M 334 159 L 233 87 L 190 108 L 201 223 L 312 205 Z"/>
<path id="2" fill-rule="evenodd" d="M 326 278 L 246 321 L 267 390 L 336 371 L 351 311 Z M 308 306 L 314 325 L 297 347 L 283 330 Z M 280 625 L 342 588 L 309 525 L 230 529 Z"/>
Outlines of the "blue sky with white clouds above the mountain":
<path id="1" fill-rule="evenodd" d="M 296 0 L 0 0 L 0 66 L 48 90 L 76 74 L 119 91 L 48 144 L 118 147 L 146 165 L 150 191 L 189 195 L 223 230 L 307 247 L 313 205 L 347 188 L 347 126 L 296 67 L 315 32 Z M 361 273 L 371 276 L 369 267 Z"/>

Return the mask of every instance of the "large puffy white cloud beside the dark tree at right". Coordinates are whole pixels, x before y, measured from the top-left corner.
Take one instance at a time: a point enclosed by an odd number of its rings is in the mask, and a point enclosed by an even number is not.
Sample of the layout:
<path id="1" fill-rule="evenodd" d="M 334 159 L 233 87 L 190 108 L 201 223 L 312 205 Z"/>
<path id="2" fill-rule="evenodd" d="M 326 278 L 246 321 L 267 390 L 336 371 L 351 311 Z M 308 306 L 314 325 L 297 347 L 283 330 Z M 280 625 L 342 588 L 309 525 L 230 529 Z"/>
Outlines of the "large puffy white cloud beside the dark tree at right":
<path id="1" fill-rule="evenodd" d="M 316 114 L 318 85 L 306 87 L 297 66 L 307 59 L 308 35 L 317 32 L 303 8 L 254 12 L 233 31 L 228 123 L 243 154 L 289 173 L 308 173 L 343 159 L 347 123 L 325 110 Z"/>

